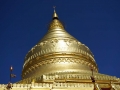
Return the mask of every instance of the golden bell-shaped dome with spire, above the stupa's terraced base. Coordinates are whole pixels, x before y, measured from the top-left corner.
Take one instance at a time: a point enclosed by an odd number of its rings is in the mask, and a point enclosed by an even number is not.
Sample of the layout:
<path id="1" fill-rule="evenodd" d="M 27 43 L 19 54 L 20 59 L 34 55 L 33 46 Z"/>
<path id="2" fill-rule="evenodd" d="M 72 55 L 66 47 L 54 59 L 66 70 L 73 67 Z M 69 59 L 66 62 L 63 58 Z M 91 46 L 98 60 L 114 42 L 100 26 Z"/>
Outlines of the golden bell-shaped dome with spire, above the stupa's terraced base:
<path id="1" fill-rule="evenodd" d="M 57 72 L 98 72 L 87 46 L 71 36 L 54 11 L 47 34 L 26 55 L 22 78 Z"/>

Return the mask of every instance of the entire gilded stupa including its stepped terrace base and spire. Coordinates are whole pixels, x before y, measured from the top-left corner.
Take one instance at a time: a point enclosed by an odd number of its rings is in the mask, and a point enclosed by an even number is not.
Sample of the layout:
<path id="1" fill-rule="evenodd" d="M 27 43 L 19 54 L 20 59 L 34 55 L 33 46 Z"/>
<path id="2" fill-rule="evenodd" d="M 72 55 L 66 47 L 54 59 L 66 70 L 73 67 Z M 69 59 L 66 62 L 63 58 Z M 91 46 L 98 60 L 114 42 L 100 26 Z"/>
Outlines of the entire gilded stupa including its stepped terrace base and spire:
<path id="1" fill-rule="evenodd" d="M 90 49 L 65 30 L 54 10 L 47 34 L 27 53 L 22 80 L 12 89 L 120 90 L 120 79 L 98 72 Z"/>

